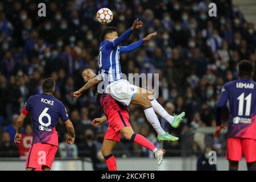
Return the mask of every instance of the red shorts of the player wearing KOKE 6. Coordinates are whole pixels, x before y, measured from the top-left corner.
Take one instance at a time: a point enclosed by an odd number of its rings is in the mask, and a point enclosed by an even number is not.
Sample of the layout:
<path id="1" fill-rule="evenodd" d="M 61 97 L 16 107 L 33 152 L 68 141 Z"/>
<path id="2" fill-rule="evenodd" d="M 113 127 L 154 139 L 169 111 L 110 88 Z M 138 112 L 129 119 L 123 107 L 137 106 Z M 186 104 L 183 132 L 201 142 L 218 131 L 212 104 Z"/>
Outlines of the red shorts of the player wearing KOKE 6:
<path id="1" fill-rule="evenodd" d="M 32 144 L 27 154 L 26 168 L 42 169 L 42 166 L 52 167 L 58 147 L 47 143 Z"/>

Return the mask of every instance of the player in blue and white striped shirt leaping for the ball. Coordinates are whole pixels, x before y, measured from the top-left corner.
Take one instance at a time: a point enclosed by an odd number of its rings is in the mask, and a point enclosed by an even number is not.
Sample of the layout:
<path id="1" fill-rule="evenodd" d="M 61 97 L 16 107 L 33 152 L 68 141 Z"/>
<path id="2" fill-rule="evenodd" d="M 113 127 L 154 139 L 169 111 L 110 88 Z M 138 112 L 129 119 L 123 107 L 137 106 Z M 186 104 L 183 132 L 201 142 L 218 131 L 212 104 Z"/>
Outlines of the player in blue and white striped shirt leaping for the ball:
<path id="1" fill-rule="evenodd" d="M 127 106 L 131 103 L 133 105 L 140 106 L 144 109 L 147 120 L 154 127 L 158 133 L 158 140 L 162 141 L 175 141 L 178 138 L 166 133 L 160 126 L 160 122 L 155 113 L 166 119 L 172 127 L 178 127 L 182 121 L 185 113 L 182 112 L 179 115 L 172 116 L 167 113 L 166 110 L 156 101 L 153 94 L 139 88 L 135 85 L 129 84 L 129 82 L 122 78 L 121 64 L 119 55 L 122 53 L 128 53 L 142 46 L 144 42 L 150 40 L 157 33 L 147 35 L 145 38 L 138 42 L 132 43 L 128 46 L 118 45 L 125 42 L 135 29 L 141 28 L 142 22 L 135 20 L 133 26 L 125 31 L 121 36 L 117 36 L 117 30 L 115 27 L 107 27 L 101 33 L 102 42 L 100 44 L 100 50 L 98 55 L 98 66 L 100 68 L 99 75 L 102 80 L 107 84 L 105 92 L 110 94 L 114 100 L 122 102 Z M 97 80 L 100 82 L 101 80 Z M 79 97 L 86 89 L 82 87 L 74 93 L 75 97 Z M 145 97 L 145 95 L 151 95 L 152 97 Z"/>

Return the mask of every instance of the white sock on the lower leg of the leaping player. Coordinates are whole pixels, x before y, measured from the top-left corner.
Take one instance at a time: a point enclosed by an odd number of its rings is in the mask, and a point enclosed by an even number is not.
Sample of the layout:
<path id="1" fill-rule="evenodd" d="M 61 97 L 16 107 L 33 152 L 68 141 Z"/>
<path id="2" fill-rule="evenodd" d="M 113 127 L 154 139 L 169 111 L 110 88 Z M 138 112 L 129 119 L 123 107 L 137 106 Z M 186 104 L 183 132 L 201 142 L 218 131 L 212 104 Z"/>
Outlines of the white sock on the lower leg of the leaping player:
<path id="1" fill-rule="evenodd" d="M 150 124 L 154 127 L 158 135 L 163 135 L 166 133 L 166 131 L 162 129 L 162 126 L 160 125 L 160 122 L 155 114 L 153 107 L 148 107 L 147 109 L 144 109 L 144 113 L 146 115 L 147 121 L 149 121 Z"/>

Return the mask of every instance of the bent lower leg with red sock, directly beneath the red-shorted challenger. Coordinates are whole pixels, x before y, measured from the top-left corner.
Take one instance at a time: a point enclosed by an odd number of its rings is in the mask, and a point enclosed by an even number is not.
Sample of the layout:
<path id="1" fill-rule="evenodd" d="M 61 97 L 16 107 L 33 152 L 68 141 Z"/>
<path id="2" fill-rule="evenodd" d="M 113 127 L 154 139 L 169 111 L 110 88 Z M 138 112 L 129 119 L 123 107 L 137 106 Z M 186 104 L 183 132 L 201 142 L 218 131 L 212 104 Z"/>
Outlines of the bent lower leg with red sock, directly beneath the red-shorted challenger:
<path id="1" fill-rule="evenodd" d="M 117 162 L 112 154 L 113 148 L 117 144 L 117 141 L 104 139 L 101 154 L 104 156 L 109 171 L 117 171 Z"/>

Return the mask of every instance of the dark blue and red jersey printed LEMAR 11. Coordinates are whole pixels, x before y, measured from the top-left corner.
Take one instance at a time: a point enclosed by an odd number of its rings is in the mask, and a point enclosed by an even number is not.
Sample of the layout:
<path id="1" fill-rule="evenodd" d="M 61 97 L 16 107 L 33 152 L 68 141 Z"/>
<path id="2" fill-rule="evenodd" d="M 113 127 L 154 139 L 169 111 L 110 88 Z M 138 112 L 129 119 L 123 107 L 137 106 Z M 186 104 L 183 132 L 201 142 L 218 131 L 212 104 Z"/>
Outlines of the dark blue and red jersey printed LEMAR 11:
<path id="1" fill-rule="evenodd" d="M 256 139 L 256 83 L 239 79 L 227 82 L 217 102 L 222 107 L 229 101 L 228 138 Z"/>

